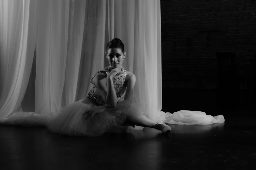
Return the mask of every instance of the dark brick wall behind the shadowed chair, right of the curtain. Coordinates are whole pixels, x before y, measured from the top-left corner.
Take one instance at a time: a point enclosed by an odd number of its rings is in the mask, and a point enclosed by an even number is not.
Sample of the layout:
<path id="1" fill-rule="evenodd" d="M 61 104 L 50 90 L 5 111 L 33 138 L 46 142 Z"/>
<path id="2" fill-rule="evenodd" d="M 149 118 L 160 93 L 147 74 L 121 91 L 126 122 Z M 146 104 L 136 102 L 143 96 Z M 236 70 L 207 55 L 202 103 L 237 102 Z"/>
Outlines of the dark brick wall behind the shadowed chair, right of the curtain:
<path id="1" fill-rule="evenodd" d="M 162 86 L 214 88 L 215 51 L 236 52 L 236 63 L 256 53 L 256 0 L 161 0 Z"/>

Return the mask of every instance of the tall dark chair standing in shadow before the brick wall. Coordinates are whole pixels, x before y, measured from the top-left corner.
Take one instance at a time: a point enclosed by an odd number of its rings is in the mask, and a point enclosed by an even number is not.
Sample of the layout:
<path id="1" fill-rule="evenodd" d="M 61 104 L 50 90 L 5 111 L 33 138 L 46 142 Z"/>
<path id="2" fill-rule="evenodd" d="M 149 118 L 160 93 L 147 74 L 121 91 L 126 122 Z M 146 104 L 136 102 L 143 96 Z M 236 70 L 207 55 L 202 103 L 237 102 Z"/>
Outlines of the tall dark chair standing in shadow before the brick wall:
<path id="1" fill-rule="evenodd" d="M 238 84 L 236 74 L 236 53 L 217 52 L 218 62 L 218 88 L 217 88 L 217 106 L 219 110 L 233 110 L 239 103 Z"/>

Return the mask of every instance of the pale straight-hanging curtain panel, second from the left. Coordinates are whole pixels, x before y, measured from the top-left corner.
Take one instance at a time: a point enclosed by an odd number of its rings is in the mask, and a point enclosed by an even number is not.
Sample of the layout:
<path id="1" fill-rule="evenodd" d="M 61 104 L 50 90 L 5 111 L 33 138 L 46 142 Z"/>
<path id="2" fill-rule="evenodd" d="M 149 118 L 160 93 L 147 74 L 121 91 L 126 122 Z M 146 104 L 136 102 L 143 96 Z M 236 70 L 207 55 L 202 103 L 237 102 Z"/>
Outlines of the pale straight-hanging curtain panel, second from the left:
<path id="1" fill-rule="evenodd" d="M 69 0 L 38 1 L 35 113 L 61 109 L 67 58 Z"/>

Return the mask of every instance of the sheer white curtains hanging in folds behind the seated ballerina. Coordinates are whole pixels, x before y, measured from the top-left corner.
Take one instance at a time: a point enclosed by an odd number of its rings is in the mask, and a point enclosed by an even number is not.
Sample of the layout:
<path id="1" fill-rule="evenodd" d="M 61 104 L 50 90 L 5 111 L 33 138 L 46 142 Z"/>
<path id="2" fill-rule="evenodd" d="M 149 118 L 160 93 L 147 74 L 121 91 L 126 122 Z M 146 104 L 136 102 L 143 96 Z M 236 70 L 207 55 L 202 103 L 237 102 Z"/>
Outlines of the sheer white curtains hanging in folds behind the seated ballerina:
<path id="1" fill-rule="evenodd" d="M 157 119 L 162 105 L 160 0 L 1 0 L 0 10 L 2 123 L 43 125 L 52 112 L 83 98 L 92 87 L 90 78 L 108 65 L 105 45 L 114 37 L 125 45 L 123 67 L 137 78 L 134 102 L 147 109 L 149 119 Z M 28 113 L 18 107 L 34 47 L 35 112 Z"/>

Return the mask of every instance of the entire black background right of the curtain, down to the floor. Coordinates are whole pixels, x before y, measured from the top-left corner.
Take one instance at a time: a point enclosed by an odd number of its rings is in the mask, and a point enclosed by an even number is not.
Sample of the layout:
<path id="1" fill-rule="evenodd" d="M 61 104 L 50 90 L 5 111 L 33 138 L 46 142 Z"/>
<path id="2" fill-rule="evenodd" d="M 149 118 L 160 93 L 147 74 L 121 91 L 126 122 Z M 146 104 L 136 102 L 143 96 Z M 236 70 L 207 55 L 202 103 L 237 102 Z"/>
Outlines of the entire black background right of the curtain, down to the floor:
<path id="1" fill-rule="evenodd" d="M 161 32 L 162 111 L 254 116 L 256 0 L 161 0 Z"/>

